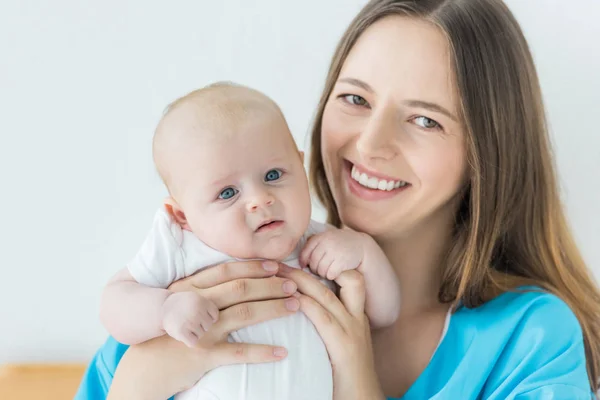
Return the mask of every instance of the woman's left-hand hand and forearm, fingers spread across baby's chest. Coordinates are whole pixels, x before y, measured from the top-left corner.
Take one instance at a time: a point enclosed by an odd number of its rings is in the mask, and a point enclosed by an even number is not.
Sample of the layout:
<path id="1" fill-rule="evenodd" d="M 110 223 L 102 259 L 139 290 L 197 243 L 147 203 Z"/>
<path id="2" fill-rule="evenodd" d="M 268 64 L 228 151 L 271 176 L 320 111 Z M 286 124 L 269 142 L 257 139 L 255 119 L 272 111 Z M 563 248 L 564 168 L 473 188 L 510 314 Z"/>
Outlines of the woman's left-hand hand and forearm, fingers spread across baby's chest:
<path id="1" fill-rule="evenodd" d="M 171 285 L 173 291 L 197 291 L 214 302 L 219 320 L 190 349 L 169 336 L 132 346 L 117 368 L 109 398 L 160 399 L 193 386 L 221 365 L 279 361 L 286 349 L 229 343 L 230 332 L 295 313 L 290 297 L 296 284 L 277 277 L 274 262 L 249 261 L 218 265 Z"/>

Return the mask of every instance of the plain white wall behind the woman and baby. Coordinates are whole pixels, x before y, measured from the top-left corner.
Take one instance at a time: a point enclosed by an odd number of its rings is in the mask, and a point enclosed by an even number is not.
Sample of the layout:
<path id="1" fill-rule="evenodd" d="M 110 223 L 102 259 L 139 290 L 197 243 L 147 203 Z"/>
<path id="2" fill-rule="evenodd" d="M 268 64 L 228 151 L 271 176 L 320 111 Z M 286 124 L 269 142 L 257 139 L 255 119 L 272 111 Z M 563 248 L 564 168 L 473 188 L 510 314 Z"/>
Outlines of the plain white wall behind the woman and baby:
<path id="1" fill-rule="evenodd" d="M 276 99 L 306 144 L 333 48 L 365 1 L 83 3 L 0 4 L 0 363 L 87 360 L 105 338 L 102 285 L 165 194 L 150 142 L 169 101 L 243 82 Z M 569 215 L 600 277 L 600 3 L 509 4 L 539 65 Z"/>

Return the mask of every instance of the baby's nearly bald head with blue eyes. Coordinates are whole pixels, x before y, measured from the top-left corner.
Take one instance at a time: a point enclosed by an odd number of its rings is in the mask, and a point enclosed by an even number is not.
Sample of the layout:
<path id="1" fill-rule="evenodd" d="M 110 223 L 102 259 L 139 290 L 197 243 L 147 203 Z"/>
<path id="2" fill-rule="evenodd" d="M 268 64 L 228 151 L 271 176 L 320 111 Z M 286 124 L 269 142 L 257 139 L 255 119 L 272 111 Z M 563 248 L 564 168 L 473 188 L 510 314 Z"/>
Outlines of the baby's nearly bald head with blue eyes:
<path id="1" fill-rule="evenodd" d="M 302 153 L 279 107 L 256 90 L 218 83 L 176 100 L 153 155 L 167 210 L 216 250 L 282 260 L 308 227 Z"/>

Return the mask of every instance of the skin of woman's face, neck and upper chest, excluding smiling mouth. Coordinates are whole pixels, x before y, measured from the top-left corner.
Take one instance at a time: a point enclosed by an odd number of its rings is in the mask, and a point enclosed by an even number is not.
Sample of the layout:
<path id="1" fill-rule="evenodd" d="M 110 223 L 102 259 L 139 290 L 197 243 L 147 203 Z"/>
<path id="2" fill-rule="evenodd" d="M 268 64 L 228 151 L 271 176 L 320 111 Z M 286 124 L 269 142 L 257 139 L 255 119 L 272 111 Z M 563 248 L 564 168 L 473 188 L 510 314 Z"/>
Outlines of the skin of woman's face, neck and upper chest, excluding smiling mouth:
<path id="1" fill-rule="evenodd" d="M 437 298 L 439 266 L 466 169 L 449 66 L 448 45 L 437 28 L 383 19 L 350 52 L 323 115 L 323 159 L 342 221 L 374 237 L 402 283 L 400 318 L 373 336 L 387 395 L 402 395 L 427 366 L 447 313 Z M 388 199 L 366 200 L 368 194 L 350 189 L 347 162 L 409 186 Z"/>

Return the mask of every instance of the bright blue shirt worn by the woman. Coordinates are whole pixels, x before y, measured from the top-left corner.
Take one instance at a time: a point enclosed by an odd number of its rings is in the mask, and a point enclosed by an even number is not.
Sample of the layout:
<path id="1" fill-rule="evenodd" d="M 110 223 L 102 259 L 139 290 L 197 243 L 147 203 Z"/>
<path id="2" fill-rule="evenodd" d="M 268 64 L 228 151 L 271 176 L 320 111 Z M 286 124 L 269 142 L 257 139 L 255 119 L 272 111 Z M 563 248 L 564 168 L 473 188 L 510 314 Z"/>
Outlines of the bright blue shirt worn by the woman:
<path id="1" fill-rule="evenodd" d="M 94 356 L 75 400 L 105 399 L 126 350 L 109 338 Z M 429 365 L 398 399 L 592 398 L 577 318 L 558 297 L 530 291 L 458 309 Z"/>

